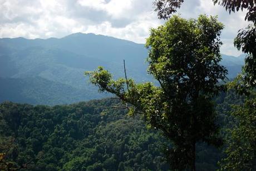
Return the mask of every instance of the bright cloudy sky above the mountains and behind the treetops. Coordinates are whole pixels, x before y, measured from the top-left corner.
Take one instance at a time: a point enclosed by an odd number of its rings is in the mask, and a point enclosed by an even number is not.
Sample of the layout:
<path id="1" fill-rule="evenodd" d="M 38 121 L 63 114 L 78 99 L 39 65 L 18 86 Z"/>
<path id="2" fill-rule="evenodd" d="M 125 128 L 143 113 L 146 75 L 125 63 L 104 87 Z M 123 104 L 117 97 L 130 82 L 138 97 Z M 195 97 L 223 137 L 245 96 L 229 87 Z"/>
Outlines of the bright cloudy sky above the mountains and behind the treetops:
<path id="1" fill-rule="evenodd" d="M 82 32 L 145 43 L 150 28 L 165 21 L 157 18 L 153 0 L 0 0 L 0 38 L 65 37 Z M 245 12 L 229 15 L 211 0 L 185 0 L 178 13 L 183 18 L 218 15 L 225 25 L 221 53 L 239 56 L 233 39 L 247 27 Z"/>

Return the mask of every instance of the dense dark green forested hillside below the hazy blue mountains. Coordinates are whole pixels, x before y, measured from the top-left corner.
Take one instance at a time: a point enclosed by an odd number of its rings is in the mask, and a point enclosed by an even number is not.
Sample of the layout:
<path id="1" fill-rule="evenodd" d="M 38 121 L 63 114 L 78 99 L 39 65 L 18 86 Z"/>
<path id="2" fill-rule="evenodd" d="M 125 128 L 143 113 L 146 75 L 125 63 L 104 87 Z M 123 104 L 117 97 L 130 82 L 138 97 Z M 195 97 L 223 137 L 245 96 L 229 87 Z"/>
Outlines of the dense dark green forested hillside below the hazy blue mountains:
<path id="1" fill-rule="evenodd" d="M 215 98 L 219 124 L 233 127 L 230 104 L 243 103 L 235 92 Z M 140 116 L 127 116 L 116 99 L 91 100 L 71 105 L 0 105 L 1 152 L 11 168 L 28 170 L 168 170 L 167 141 L 147 129 Z M 231 124 L 230 124 L 231 123 Z M 198 170 L 216 170 L 224 149 L 196 145 Z M 1 163 L 1 167 L 5 167 Z"/>

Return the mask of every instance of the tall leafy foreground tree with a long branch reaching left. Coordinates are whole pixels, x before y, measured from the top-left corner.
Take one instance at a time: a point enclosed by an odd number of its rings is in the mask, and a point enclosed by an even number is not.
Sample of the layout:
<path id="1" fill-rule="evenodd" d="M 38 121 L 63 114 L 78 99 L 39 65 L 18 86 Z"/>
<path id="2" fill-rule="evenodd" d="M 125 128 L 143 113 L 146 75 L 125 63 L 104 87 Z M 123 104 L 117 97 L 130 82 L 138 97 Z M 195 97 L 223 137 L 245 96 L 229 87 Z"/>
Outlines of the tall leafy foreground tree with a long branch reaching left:
<path id="1" fill-rule="evenodd" d="M 114 81 L 102 67 L 86 72 L 100 92 L 114 93 L 131 104 L 130 115 L 141 113 L 147 124 L 171 141 L 166 157 L 172 169 L 195 170 L 196 142 L 221 144 L 211 102 L 221 89 L 219 80 L 227 74 L 219 65 L 221 29 L 216 17 L 206 16 L 189 20 L 174 16 L 151 29 L 146 41 L 148 72 L 160 86 L 135 84 L 127 78 Z"/>

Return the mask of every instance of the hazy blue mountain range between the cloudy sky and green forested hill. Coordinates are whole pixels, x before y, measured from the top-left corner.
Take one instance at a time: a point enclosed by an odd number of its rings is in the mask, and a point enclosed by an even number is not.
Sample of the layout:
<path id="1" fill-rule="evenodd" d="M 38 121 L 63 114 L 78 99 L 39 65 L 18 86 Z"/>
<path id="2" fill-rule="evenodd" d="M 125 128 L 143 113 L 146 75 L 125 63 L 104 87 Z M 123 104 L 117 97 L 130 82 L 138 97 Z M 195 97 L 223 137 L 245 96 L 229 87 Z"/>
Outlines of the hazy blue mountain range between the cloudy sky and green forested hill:
<path id="1" fill-rule="evenodd" d="M 124 77 L 125 59 L 130 78 L 152 81 L 146 72 L 147 54 L 144 44 L 92 33 L 48 39 L 2 38 L 0 102 L 54 105 L 106 97 L 87 83 L 84 72 L 104 66 L 115 78 Z M 233 78 L 244 57 L 223 54 L 221 64 Z"/>

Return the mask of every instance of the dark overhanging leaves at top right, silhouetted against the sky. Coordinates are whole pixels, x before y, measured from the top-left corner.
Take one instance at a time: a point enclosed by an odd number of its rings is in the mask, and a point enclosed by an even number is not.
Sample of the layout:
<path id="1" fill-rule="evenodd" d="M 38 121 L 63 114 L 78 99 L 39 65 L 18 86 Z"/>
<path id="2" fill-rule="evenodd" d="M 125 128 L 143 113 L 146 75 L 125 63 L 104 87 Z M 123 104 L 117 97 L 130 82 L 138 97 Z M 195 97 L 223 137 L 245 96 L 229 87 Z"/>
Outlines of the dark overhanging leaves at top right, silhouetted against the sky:
<path id="1" fill-rule="evenodd" d="M 176 12 L 176 8 L 180 8 L 181 3 L 184 1 L 177 0 L 157 0 L 154 2 L 155 11 L 159 18 L 167 19 L 171 17 L 172 13 Z M 223 6 L 226 11 L 231 12 L 236 11 L 247 11 L 244 20 L 253 22 L 249 24 L 246 29 L 240 29 L 238 36 L 234 40 L 234 46 L 239 50 L 242 49 L 243 53 L 247 53 L 245 58 L 245 66 L 243 68 L 243 82 L 244 89 L 240 89 L 239 92 L 246 93 L 246 89 L 256 86 L 256 1 L 255 0 L 213 0 L 214 4 L 219 4 Z"/>

